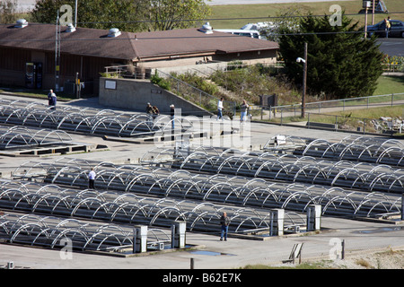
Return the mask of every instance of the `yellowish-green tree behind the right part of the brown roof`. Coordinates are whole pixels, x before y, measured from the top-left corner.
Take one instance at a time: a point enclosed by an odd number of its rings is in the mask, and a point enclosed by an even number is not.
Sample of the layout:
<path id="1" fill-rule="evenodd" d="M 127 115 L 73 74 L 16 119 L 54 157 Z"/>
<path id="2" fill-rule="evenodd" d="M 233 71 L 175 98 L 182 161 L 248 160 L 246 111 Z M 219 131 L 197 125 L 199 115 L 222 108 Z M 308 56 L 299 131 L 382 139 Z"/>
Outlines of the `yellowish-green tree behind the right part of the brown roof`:
<path id="1" fill-rule="evenodd" d="M 204 0 L 149 0 L 153 30 L 185 29 L 211 13 Z M 210 1 L 210 0 L 208 0 Z"/>

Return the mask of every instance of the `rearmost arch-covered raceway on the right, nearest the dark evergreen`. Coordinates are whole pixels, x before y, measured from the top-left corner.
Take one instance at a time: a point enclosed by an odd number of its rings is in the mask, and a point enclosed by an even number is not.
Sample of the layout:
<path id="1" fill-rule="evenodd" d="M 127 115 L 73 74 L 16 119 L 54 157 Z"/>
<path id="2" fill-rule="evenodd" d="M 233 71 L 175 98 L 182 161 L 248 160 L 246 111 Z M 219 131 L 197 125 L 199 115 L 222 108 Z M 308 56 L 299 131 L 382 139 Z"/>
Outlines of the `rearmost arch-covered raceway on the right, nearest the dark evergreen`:
<path id="1" fill-rule="evenodd" d="M 283 142 L 278 144 L 277 138 Z M 404 143 L 397 139 L 348 135 L 337 143 L 291 135 L 276 135 L 264 151 L 289 151 L 295 155 L 313 156 L 335 161 L 362 161 L 404 167 Z"/>

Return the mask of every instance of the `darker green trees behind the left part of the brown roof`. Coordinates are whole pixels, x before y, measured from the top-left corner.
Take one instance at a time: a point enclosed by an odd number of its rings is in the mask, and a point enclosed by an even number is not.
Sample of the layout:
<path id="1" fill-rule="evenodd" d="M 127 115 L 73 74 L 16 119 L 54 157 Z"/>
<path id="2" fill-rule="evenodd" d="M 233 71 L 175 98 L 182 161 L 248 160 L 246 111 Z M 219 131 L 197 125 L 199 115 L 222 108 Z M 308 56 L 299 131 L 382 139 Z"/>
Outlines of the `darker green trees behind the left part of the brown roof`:
<path id="1" fill-rule="evenodd" d="M 57 11 L 68 4 L 75 9 L 75 0 L 38 0 L 31 12 L 32 22 L 55 23 Z M 81 0 L 77 4 L 77 26 L 93 29 L 118 28 L 125 31 L 145 30 L 147 1 L 142 0 Z M 75 12 L 73 11 L 73 14 Z"/>

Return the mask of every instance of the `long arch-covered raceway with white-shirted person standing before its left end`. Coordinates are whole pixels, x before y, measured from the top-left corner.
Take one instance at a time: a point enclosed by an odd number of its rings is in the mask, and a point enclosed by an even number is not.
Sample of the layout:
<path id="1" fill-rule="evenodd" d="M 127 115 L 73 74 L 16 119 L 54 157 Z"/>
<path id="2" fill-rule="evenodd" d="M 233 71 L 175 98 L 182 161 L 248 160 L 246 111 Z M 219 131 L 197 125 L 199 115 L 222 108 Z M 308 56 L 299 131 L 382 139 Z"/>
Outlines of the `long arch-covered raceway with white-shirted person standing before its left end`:
<path id="1" fill-rule="evenodd" d="M 224 174 L 198 174 L 152 166 L 116 166 L 82 160 L 53 163 L 27 162 L 16 179 L 37 180 L 64 186 L 86 188 L 90 167 L 96 167 L 96 188 L 137 195 L 164 196 L 232 204 L 249 208 L 284 208 L 303 213 L 310 204 L 321 204 L 322 213 L 341 217 L 400 213 L 400 196 L 379 192 L 347 190 L 305 183 L 285 184 L 263 178 Z M 26 170 L 22 172 L 22 170 Z"/>

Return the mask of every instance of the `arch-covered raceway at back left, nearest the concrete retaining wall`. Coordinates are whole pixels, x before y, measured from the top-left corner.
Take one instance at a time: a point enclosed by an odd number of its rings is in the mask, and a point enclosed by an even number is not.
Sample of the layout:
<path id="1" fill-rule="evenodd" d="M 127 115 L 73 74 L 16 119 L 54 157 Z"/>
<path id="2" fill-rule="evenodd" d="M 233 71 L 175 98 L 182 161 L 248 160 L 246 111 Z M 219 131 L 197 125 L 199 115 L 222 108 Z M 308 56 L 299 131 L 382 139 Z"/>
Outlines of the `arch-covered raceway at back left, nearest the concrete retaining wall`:
<path id="1" fill-rule="evenodd" d="M 166 123 L 171 121 L 170 117 L 159 118 L 167 120 L 154 121 L 154 117 L 146 114 L 129 115 L 110 109 L 72 107 L 51 109 L 45 104 L 29 101 L 0 100 L 0 123 L 61 129 L 90 135 L 150 136 L 171 128 L 171 124 Z M 180 130 L 192 130 L 192 123 L 186 118 L 177 117 L 175 122 Z"/>

